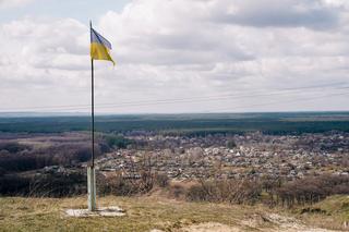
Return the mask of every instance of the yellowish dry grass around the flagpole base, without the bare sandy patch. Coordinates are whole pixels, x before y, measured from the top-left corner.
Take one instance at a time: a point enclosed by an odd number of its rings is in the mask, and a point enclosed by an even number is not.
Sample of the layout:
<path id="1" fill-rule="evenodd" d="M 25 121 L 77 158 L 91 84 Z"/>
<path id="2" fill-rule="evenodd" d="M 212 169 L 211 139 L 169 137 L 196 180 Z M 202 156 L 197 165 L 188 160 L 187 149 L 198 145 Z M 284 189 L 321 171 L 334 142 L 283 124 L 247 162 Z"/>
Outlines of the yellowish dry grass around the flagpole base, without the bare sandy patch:
<path id="1" fill-rule="evenodd" d="M 99 198 L 100 206 L 127 210 L 121 218 L 67 218 L 68 208 L 85 208 L 86 199 L 0 198 L 0 231 L 171 231 L 200 222 L 237 225 L 256 208 L 182 203 L 156 198 Z M 245 227 L 246 228 L 246 227 Z M 246 228 L 248 229 L 248 228 Z"/>

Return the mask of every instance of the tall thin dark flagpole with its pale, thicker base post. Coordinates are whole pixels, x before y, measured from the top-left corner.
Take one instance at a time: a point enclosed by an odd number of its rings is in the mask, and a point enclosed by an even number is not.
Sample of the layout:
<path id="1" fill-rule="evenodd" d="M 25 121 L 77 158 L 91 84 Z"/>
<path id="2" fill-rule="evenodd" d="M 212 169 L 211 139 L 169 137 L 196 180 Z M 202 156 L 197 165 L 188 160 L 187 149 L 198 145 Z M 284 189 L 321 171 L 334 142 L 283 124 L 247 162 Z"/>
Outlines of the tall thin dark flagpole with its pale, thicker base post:
<path id="1" fill-rule="evenodd" d="M 92 22 L 89 21 L 92 41 Z M 92 160 L 87 167 L 88 210 L 96 210 L 96 174 L 95 174 L 95 89 L 94 89 L 94 59 L 91 58 L 91 118 L 92 118 Z"/>

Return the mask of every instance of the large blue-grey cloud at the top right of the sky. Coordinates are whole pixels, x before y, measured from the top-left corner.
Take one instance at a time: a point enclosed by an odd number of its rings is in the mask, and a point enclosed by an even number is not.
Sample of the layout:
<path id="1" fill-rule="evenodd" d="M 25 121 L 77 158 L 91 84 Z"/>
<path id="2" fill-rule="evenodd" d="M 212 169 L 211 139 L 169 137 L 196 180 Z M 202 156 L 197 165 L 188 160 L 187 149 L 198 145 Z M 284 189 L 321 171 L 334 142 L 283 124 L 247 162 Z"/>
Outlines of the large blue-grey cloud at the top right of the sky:
<path id="1" fill-rule="evenodd" d="M 226 8 L 229 1 L 215 2 L 213 19 L 246 26 L 324 28 L 336 26 L 338 21 L 336 9 L 318 0 L 236 0 L 233 11 Z"/>

